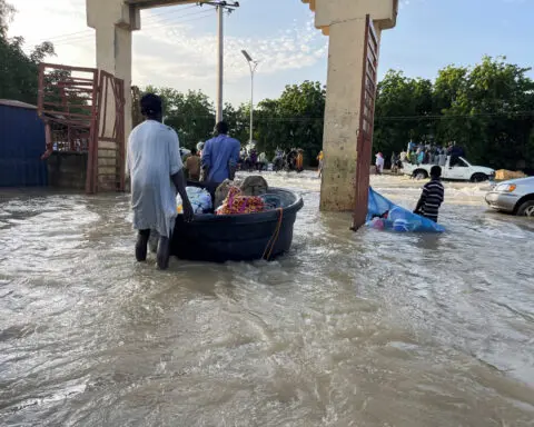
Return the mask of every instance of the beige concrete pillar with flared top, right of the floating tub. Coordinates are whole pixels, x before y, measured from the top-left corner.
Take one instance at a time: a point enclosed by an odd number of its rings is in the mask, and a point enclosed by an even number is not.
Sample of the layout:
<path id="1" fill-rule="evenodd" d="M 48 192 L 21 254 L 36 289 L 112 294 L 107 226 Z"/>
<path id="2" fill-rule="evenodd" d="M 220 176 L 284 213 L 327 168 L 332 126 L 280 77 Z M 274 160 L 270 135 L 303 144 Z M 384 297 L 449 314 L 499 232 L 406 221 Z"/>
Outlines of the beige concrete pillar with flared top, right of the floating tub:
<path id="1" fill-rule="evenodd" d="M 352 211 L 360 123 L 366 17 L 380 37 L 396 23 L 397 0 L 303 0 L 329 36 L 320 208 Z M 366 166 L 370 168 L 370 165 Z"/>

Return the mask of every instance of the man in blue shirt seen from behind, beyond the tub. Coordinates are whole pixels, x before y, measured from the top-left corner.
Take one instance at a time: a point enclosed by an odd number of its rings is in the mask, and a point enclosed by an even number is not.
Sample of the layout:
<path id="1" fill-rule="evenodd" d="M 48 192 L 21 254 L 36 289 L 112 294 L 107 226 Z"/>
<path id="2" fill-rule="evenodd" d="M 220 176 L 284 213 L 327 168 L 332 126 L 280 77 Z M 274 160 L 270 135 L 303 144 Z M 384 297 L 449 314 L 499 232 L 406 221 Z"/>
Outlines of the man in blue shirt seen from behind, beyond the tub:
<path id="1" fill-rule="evenodd" d="M 202 150 L 202 167 L 207 181 L 219 185 L 225 179 L 234 179 L 233 173 L 239 161 L 241 145 L 228 137 L 228 125 L 220 121 L 216 126 L 217 137 L 206 141 Z"/>

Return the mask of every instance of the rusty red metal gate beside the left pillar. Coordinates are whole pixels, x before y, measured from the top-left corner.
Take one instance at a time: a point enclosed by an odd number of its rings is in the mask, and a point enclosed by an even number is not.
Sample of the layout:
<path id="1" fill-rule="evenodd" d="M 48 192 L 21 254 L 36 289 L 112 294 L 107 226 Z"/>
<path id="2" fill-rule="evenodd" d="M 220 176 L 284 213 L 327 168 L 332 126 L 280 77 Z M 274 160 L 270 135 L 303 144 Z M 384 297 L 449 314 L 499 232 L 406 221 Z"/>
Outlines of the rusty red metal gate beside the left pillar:
<path id="1" fill-rule="evenodd" d="M 87 153 L 86 192 L 123 191 L 125 103 L 125 82 L 109 72 L 41 63 L 39 116 L 47 137 L 42 159 L 53 151 Z"/>

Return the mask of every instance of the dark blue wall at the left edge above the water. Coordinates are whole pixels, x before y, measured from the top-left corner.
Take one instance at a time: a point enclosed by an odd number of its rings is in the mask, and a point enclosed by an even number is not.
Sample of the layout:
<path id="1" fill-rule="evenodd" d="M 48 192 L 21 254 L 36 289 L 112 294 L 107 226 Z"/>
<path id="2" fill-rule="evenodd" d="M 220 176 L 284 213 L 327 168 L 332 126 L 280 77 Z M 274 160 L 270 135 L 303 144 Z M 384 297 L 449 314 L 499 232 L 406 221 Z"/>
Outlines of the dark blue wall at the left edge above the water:
<path id="1" fill-rule="evenodd" d="M 0 187 L 46 186 L 44 123 L 37 110 L 0 105 Z"/>

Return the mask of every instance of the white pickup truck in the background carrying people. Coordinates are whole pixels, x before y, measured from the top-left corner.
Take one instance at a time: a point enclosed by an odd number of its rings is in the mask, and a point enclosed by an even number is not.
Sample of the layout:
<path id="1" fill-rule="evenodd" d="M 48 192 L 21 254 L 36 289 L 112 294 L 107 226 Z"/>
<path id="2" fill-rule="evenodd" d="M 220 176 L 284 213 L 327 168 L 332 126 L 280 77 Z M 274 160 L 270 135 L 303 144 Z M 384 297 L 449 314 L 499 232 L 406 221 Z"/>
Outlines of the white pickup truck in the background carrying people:
<path id="1" fill-rule="evenodd" d="M 414 178 L 425 179 L 431 176 L 431 169 L 434 165 L 412 165 L 403 162 L 403 173 Z M 458 157 L 456 163 L 451 166 L 451 156 L 447 162 L 442 166 L 442 178 L 457 181 L 483 182 L 492 179 L 495 170 L 483 166 L 473 166 L 463 157 Z"/>

